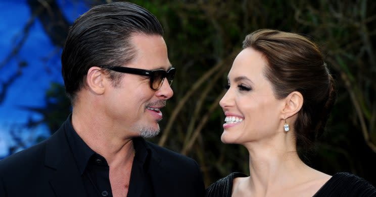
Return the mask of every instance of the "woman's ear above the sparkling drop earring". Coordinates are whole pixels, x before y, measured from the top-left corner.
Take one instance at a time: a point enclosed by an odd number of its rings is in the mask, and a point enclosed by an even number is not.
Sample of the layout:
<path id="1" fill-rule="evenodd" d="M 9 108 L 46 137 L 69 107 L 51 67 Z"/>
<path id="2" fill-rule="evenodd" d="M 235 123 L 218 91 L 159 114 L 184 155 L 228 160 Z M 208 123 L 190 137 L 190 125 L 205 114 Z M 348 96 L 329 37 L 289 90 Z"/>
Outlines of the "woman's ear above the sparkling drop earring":
<path id="1" fill-rule="evenodd" d="M 283 111 L 281 115 L 283 119 L 289 118 L 296 113 L 299 112 L 299 110 L 303 106 L 303 95 L 298 92 L 294 91 L 290 93 L 286 98 L 285 98 L 285 107 L 283 108 Z"/>

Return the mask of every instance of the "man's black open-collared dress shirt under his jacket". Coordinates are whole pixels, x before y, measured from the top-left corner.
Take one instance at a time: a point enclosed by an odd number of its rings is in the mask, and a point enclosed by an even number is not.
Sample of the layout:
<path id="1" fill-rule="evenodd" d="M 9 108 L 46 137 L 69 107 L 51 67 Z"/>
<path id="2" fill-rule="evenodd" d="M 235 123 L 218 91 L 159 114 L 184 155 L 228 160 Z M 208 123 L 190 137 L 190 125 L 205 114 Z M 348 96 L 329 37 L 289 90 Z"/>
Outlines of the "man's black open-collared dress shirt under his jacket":
<path id="1" fill-rule="evenodd" d="M 110 167 L 106 159 L 86 145 L 75 132 L 71 118 L 68 120 L 66 137 L 81 173 L 87 196 L 112 196 Z M 134 138 L 133 146 L 136 154 L 133 159 L 127 196 L 154 196 L 153 184 L 148 173 L 151 151 L 143 138 Z"/>

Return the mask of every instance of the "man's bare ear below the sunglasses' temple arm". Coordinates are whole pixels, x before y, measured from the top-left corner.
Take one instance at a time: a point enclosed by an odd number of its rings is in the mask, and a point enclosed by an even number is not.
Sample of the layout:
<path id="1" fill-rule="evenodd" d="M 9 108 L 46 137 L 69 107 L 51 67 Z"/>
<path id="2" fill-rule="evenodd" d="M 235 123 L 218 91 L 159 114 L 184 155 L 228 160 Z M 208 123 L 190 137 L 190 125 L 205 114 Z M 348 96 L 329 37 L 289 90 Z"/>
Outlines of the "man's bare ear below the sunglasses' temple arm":
<path id="1" fill-rule="evenodd" d="M 97 95 L 103 94 L 105 92 L 105 77 L 101 68 L 91 67 L 86 75 L 86 84 L 90 92 Z"/>

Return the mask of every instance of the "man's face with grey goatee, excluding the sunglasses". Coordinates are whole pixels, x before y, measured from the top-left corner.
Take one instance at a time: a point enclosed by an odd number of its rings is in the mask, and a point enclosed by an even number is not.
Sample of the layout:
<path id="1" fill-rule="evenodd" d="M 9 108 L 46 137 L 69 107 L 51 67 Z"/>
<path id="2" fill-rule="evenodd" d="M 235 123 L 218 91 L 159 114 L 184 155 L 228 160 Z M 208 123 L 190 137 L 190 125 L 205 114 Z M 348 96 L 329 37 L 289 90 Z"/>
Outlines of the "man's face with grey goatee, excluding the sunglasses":
<path id="1" fill-rule="evenodd" d="M 124 65 L 129 68 L 168 70 L 171 64 L 167 56 L 164 39 L 159 35 L 135 34 L 131 38 L 135 46 L 135 59 Z M 162 119 L 160 109 L 173 95 L 167 80 L 159 90 L 150 88 L 150 78 L 145 76 L 122 74 L 117 87 L 105 92 L 106 114 L 115 129 L 132 136 L 153 137 L 159 133 L 158 121 Z M 121 133 L 120 132 L 120 133 Z"/>

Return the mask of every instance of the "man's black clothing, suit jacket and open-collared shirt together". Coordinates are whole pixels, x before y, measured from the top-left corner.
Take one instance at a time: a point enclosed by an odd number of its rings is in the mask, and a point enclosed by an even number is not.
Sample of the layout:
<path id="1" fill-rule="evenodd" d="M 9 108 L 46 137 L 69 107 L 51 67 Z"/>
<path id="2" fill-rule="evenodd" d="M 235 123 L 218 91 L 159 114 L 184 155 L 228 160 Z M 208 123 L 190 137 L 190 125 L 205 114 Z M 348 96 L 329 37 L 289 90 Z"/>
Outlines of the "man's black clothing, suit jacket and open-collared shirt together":
<path id="1" fill-rule="evenodd" d="M 128 196 L 204 196 L 195 160 L 142 138 L 133 139 L 133 145 Z M 111 196 L 109 167 L 106 160 L 99 165 L 97 159 L 103 157 L 82 142 L 69 116 L 50 138 L 0 160 L 0 196 L 96 197 L 103 196 L 102 191 Z"/>

